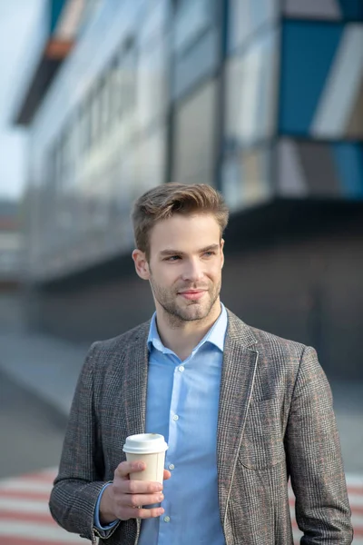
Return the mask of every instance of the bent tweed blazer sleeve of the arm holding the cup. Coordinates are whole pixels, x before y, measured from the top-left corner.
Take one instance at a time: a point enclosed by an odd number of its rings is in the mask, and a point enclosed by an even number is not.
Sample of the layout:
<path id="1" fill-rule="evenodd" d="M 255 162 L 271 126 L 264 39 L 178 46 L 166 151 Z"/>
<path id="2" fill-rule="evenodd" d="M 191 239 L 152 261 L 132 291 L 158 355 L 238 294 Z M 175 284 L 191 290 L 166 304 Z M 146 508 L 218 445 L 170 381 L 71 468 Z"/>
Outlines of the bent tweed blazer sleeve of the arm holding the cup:
<path id="1" fill-rule="evenodd" d="M 90 348 L 79 376 L 65 432 L 58 475 L 49 508 L 54 520 L 70 532 L 96 542 L 94 510 L 103 481 L 103 450 L 94 410 L 93 365 L 97 342 Z M 110 537 L 118 525 L 108 530 Z M 103 538 L 104 539 L 104 538 Z"/>

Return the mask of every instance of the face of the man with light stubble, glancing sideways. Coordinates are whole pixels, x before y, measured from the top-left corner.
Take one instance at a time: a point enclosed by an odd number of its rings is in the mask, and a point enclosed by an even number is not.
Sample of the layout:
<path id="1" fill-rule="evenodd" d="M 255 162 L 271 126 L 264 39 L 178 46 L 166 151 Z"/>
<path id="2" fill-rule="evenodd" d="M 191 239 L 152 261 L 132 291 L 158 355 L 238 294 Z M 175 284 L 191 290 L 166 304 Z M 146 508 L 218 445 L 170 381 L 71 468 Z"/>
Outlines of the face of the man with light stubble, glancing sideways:
<path id="1" fill-rule="evenodd" d="M 157 223 L 148 263 L 156 307 L 177 322 L 190 322 L 219 306 L 223 243 L 211 214 L 175 214 Z"/>

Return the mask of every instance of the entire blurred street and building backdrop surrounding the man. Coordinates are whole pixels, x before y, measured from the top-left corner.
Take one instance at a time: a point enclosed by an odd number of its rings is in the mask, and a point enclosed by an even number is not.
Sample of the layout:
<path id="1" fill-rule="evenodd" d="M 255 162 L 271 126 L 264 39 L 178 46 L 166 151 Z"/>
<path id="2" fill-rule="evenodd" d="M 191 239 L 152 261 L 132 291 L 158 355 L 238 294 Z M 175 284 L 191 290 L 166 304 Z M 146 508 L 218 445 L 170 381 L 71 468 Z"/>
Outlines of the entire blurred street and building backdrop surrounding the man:
<path id="1" fill-rule="evenodd" d="M 0 64 L 0 477 L 53 476 L 88 346 L 152 314 L 134 199 L 209 183 L 222 301 L 317 349 L 363 543 L 363 1 L 0 0 Z"/>

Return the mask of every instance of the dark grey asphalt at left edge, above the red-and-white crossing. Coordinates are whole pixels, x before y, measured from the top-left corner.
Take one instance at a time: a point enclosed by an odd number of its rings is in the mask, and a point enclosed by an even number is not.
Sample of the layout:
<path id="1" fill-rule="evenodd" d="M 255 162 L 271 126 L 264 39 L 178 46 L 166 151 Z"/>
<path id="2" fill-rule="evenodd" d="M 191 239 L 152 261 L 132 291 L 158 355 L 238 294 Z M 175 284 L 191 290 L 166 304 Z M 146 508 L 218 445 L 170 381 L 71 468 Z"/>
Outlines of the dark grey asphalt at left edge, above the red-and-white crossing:
<path id="1" fill-rule="evenodd" d="M 0 479 L 58 465 L 65 417 L 0 372 Z"/>

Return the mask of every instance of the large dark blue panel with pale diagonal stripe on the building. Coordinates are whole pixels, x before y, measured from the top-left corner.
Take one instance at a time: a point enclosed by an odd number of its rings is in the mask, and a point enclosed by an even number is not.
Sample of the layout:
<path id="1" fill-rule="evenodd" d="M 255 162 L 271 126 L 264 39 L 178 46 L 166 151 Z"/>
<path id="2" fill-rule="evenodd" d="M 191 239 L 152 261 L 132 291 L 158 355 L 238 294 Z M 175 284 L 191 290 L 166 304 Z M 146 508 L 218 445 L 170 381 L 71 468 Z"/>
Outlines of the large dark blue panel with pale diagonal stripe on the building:
<path id="1" fill-rule="evenodd" d="M 280 131 L 320 139 L 363 136 L 363 25 L 286 21 Z"/>

